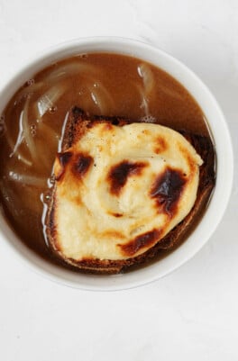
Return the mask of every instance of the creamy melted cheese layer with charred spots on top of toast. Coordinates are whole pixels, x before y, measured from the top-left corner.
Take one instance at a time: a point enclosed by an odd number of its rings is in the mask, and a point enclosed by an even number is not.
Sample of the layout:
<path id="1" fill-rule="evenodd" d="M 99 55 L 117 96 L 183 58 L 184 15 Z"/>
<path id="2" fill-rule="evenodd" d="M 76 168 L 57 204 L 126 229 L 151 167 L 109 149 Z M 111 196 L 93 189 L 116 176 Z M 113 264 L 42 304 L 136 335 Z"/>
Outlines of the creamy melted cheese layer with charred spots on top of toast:
<path id="1" fill-rule="evenodd" d="M 67 153 L 54 166 L 54 242 L 64 257 L 138 256 L 195 203 L 202 159 L 167 127 L 93 123 Z"/>

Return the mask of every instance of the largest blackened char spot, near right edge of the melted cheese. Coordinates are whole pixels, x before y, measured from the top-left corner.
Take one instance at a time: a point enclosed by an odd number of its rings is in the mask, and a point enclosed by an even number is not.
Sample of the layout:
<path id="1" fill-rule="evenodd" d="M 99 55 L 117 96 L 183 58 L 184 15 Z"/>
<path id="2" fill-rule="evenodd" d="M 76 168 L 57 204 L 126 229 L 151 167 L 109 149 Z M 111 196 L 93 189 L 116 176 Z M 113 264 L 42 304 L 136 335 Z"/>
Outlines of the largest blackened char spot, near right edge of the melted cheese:
<path id="1" fill-rule="evenodd" d="M 169 215 L 176 212 L 178 200 L 186 185 L 184 174 L 178 170 L 167 167 L 156 179 L 151 188 L 151 198 L 155 199 L 159 212 Z"/>

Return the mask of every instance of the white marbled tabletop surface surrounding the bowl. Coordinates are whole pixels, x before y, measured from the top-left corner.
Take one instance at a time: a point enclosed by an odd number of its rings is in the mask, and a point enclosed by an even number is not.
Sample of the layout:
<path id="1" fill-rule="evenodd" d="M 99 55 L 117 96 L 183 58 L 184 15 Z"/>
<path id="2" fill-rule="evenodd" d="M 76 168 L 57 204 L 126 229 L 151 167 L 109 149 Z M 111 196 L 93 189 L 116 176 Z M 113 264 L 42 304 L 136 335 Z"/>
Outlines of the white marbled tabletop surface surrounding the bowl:
<path id="1" fill-rule="evenodd" d="M 0 89 L 36 51 L 92 35 L 146 40 L 192 68 L 224 110 L 237 164 L 236 0 L 0 0 Z M 0 248 L 0 359 L 237 360 L 237 201 L 236 167 L 231 202 L 206 247 L 172 275 L 131 291 L 53 284 Z"/>

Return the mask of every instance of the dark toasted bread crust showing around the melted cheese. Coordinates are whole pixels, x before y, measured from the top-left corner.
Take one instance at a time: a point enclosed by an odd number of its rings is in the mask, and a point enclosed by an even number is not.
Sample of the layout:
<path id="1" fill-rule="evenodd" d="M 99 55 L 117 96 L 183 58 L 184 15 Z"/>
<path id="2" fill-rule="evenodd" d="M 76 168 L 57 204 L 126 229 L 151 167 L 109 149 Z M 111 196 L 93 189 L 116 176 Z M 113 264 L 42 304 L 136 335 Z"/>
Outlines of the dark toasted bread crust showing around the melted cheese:
<path id="1" fill-rule="evenodd" d="M 75 106 L 69 114 L 69 120 L 66 124 L 64 136 L 61 143 L 61 150 L 66 151 L 75 142 L 77 142 L 87 131 L 93 122 L 108 122 L 114 125 L 123 126 L 130 123 L 129 120 L 120 117 L 89 116 L 82 109 Z M 55 189 L 52 188 L 51 201 L 46 217 L 46 233 L 49 239 L 50 247 L 53 252 L 71 266 L 78 267 L 79 270 L 93 274 L 118 274 L 132 269 L 135 265 L 148 263 L 151 259 L 160 257 L 163 253 L 178 247 L 185 239 L 188 231 L 193 229 L 199 220 L 200 213 L 204 205 L 208 202 L 215 186 L 215 151 L 211 140 L 208 137 L 188 133 L 188 131 L 179 131 L 197 150 L 197 153 L 204 160 L 199 171 L 199 185 L 197 189 L 197 199 L 188 215 L 173 230 L 160 241 L 137 257 L 130 257 L 123 260 L 101 260 L 101 259 L 83 259 L 76 261 L 66 258 L 60 253 L 54 239 L 54 208 L 55 208 Z"/>

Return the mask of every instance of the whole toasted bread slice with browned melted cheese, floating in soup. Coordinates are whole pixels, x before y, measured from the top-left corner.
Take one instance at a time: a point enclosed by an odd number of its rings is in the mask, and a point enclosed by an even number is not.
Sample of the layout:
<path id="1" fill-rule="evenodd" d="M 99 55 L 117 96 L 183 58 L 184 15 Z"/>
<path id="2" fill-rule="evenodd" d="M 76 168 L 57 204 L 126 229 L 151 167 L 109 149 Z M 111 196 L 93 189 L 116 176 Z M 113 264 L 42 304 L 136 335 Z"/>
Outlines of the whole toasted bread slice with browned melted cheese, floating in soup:
<path id="1" fill-rule="evenodd" d="M 214 166 L 206 137 L 75 107 L 54 165 L 50 246 L 68 264 L 103 274 L 175 248 L 212 192 Z"/>

